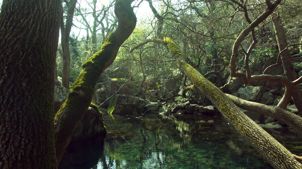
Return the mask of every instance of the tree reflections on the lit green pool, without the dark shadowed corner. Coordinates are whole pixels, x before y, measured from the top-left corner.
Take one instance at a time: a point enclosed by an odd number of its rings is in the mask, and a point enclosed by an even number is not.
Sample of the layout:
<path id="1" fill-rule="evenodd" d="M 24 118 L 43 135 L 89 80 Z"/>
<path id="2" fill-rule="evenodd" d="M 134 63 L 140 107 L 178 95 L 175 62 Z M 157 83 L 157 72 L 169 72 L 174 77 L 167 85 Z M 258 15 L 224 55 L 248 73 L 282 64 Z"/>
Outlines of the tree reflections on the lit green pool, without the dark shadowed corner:
<path id="1" fill-rule="evenodd" d="M 264 167 L 252 147 L 220 118 L 214 124 L 200 122 L 209 117 L 194 117 L 194 121 L 185 117 L 130 119 L 115 116 L 115 128 L 121 131 L 107 135 L 98 168 L 239 167 L 243 159 L 246 165 Z"/>

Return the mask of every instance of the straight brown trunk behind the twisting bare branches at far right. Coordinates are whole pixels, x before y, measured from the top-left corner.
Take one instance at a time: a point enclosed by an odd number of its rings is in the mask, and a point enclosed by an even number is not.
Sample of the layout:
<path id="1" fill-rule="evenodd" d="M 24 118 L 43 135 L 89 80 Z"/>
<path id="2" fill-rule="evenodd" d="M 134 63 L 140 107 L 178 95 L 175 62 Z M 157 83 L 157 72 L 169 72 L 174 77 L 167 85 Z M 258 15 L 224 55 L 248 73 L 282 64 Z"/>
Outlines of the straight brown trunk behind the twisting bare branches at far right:
<path id="1" fill-rule="evenodd" d="M 273 13 L 271 17 L 272 17 L 272 19 L 275 18 L 273 20 L 273 24 L 274 24 L 274 28 L 275 28 L 275 32 L 276 32 L 276 38 L 277 38 L 277 42 L 278 42 L 279 52 L 281 52 L 287 47 L 286 36 L 285 36 L 284 29 L 283 29 L 283 25 L 281 23 L 282 22 L 281 17 L 280 17 L 280 15 L 277 16 L 277 14 L 275 14 L 275 13 Z M 291 62 L 291 54 L 289 53 L 288 50 L 285 50 L 281 54 L 281 60 L 282 60 L 282 65 L 283 65 L 284 73 L 285 73 L 286 77 L 290 81 L 296 80 L 297 74 L 294 70 L 293 63 Z M 299 115 L 302 116 L 302 93 L 300 91 L 298 84 L 296 86 L 294 86 L 294 88 L 293 88 L 292 99 L 295 103 L 295 106 L 298 109 Z"/>

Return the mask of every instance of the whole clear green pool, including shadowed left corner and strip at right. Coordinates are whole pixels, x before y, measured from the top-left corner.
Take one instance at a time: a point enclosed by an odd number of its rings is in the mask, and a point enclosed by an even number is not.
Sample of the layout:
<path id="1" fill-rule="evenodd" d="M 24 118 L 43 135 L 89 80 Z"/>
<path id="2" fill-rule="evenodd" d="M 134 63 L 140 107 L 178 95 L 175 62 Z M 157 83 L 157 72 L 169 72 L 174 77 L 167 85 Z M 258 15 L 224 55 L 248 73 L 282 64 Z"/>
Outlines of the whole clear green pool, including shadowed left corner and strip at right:
<path id="1" fill-rule="evenodd" d="M 73 143 L 59 168 L 272 168 L 221 116 L 114 118 L 104 115 L 111 132 L 105 140 L 97 137 Z M 267 131 L 291 152 L 302 155 L 300 134 L 288 128 Z"/>

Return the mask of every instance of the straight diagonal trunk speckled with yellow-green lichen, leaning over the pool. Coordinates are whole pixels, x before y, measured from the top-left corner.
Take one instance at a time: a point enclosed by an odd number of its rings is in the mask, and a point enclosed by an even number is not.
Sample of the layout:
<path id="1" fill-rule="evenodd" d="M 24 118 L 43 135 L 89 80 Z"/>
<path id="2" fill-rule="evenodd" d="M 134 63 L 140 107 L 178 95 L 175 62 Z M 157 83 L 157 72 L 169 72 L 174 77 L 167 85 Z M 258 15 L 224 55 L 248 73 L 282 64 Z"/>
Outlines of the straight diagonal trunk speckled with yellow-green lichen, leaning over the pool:
<path id="1" fill-rule="evenodd" d="M 162 43 L 177 58 L 179 69 L 194 83 L 197 91 L 204 94 L 217 107 L 226 120 L 267 160 L 274 168 L 302 168 L 291 152 L 282 146 L 258 124 L 246 116 L 220 89 L 186 63 L 186 57 L 170 39 Z"/>

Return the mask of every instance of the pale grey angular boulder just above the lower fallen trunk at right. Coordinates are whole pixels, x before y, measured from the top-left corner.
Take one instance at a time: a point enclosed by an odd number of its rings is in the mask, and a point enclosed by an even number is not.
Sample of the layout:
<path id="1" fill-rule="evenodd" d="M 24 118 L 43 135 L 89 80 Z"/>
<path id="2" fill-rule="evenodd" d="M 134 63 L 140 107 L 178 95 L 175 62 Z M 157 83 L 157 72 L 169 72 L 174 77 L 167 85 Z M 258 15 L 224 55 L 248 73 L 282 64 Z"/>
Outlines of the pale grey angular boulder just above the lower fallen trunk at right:
<path id="1" fill-rule="evenodd" d="M 252 102 L 259 102 L 265 89 L 262 86 L 247 86 L 246 88 L 239 88 L 237 91 L 241 99 Z"/>

